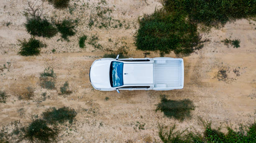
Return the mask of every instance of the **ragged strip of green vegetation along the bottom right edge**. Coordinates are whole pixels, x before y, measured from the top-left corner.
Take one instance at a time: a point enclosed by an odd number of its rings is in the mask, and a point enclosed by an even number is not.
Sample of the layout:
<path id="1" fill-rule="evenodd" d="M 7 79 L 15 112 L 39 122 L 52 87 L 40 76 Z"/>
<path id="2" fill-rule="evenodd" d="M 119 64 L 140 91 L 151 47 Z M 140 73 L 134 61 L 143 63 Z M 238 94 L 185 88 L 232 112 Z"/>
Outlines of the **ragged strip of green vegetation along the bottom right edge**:
<path id="1" fill-rule="evenodd" d="M 170 127 L 165 132 L 163 126 L 159 126 L 159 137 L 164 143 L 255 143 L 256 142 L 256 123 L 246 127 L 240 125 L 238 131 L 230 127 L 228 133 L 222 133 L 220 127 L 211 128 L 211 123 L 204 123 L 204 136 L 192 131 L 174 131 L 176 126 Z"/>

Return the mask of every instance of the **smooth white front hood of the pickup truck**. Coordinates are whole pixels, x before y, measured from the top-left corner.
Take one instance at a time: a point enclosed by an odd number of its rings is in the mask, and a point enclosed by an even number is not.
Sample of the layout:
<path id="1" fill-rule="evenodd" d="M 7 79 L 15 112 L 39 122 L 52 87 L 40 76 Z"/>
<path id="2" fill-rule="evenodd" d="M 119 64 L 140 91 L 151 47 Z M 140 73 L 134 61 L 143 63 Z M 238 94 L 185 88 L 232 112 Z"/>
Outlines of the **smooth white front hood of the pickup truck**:
<path id="1" fill-rule="evenodd" d="M 110 70 L 110 60 L 96 60 L 93 62 L 90 69 L 90 81 L 92 86 L 96 89 L 109 89 L 110 78 L 109 78 L 109 70 Z"/>

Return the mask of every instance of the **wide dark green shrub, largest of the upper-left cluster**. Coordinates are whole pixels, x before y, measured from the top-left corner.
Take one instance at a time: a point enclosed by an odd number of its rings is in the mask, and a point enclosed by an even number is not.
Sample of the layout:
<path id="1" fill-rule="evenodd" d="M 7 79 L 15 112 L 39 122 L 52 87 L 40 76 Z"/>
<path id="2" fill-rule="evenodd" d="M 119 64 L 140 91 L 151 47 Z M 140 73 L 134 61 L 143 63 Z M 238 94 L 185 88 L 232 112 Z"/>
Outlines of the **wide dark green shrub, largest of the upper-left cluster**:
<path id="1" fill-rule="evenodd" d="M 57 29 L 48 20 L 41 17 L 31 17 L 25 23 L 28 33 L 39 37 L 54 37 L 57 34 Z"/>

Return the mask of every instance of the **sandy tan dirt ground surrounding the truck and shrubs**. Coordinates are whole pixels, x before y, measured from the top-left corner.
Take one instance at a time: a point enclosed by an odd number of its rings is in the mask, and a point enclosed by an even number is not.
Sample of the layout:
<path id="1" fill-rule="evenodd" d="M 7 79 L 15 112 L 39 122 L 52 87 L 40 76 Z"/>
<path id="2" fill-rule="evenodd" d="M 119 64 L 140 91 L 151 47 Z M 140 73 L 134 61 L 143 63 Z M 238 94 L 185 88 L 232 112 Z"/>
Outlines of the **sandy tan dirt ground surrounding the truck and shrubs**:
<path id="1" fill-rule="evenodd" d="M 138 30 L 138 17 L 154 12 L 161 7 L 157 0 L 107 0 L 107 4 L 97 0 L 71 0 L 71 7 L 56 10 L 44 0 L 31 0 L 41 5 L 43 15 L 57 20 L 78 19 L 76 35 L 69 42 L 56 35 L 51 39 L 36 37 L 48 46 L 39 56 L 23 57 L 18 55 L 17 39 L 28 39 L 24 23 L 24 9 L 27 0 L 0 1 L 0 65 L 7 67 L 0 71 L 0 90 L 9 97 L 6 104 L 0 104 L 0 126 L 20 120 L 27 125 L 31 116 L 40 115 L 50 107 L 68 106 L 77 110 L 76 121 L 59 133 L 60 143 L 121 143 L 133 141 L 159 141 L 158 125 L 177 124 L 178 129 L 194 128 L 202 131 L 198 116 L 212 121 L 212 126 L 252 123 L 256 111 L 256 25 L 254 21 L 242 19 L 228 22 L 219 29 L 201 32 L 202 39 L 209 39 L 205 46 L 184 58 L 184 89 L 173 91 L 97 91 L 89 81 L 90 65 L 110 50 L 117 51 L 125 47 L 129 57 L 143 58 L 144 52 L 136 50 L 134 35 Z M 83 5 L 84 4 L 84 5 Z M 90 17 L 97 17 L 95 7 L 109 7 L 110 16 L 123 22 L 117 28 L 90 28 Z M 71 10 L 71 12 L 70 12 Z M 99 19 L 100 20 L 100 19 Z M 10 22 L 10 25 L 6 24 Z M 126 26 L 125 26 L 126 25 Z M 90 44 L 81 49 L 79 37 L 92 35 L 99 37 L 101 49 Z M 111 38 L 111 41 L 108 39 Z M 221 40 L 240 39 L 241 47 L 227 47 Z M 88 41 L 86 41 L 87 43 Z M 56 49 L 55 53 L 51 50 Z M 147 57 L 159 57 L 159 53 L 150 52 Z M 165 57 L 176 57 L 166 54 Z M 46 67 L 53 67 L 56 73 L 56 89 L 46 90 L 39 85 L 40 73 Z M 220 69 L 227 71 L 225 80 L 218 80 Z M 236 71 L 236 73 L 234 72 Z M 237 72 L 238 71 L 238 72 Z M 72 94 L 58 95 L 59 87 L 69 82 Z M 26 87 L 33 87 L 35 95 L 31 100 L 19 100 L 18 94 Z M 42 101 L 41 94 L 46 92 L 47 99 Z M 196 108 L 192 118 L 179 122 L 167 118 L 164 113 L 155 111 L 161 100 L 160 95 L 168 99 L 190 99 Z M 105 101 L 105 97 L 109 97 Z M 145 123 L 144 130 L 136 124 Z"/>

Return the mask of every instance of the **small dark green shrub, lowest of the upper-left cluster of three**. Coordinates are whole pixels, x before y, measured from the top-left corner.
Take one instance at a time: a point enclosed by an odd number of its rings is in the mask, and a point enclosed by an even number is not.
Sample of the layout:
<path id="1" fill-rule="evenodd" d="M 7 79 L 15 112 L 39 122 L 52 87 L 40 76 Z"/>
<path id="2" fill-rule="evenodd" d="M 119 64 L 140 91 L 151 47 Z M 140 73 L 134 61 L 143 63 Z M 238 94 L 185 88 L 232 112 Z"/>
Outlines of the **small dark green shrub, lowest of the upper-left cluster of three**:
<path id="1" fill-rule="evenodd" d="M 44 46 L 43 43 L 41 43 L 39 40 L 30 38 L 27 42 L 26 39 L 23 41 L 18 40 L 20 44 L 20 52 L 19 54 L 22 56 L 33 56 L 40 54 L 40 48 Z"/>

